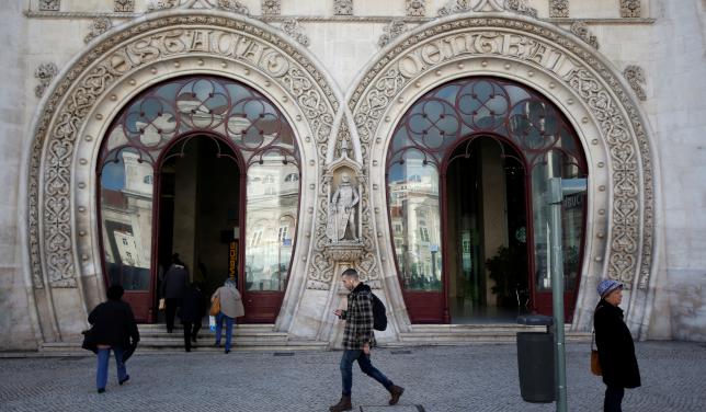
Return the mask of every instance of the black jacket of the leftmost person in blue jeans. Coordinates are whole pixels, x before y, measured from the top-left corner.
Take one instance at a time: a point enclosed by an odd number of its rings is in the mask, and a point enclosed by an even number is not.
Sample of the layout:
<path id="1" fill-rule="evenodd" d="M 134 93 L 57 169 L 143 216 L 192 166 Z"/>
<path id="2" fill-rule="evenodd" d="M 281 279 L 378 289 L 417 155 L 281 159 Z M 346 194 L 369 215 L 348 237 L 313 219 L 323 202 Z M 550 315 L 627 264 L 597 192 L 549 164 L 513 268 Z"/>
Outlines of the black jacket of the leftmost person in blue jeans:
<path id="1" fill-rule="evenodd" d="M 96 345 L 128 348 L 139 342 L 133 309 L 122 300 L 109 300 L 96 306 L 89 314 L 89 323 L 93 325 L 91 333 Z"/>

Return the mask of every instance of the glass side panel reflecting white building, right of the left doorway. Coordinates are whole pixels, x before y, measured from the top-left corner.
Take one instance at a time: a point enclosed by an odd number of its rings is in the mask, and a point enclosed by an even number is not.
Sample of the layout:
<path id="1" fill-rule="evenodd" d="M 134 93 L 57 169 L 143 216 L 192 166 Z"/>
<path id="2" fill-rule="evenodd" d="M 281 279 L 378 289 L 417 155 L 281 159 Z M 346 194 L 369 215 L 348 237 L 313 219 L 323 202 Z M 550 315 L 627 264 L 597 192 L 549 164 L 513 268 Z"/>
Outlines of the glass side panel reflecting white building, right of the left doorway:
<path id="1" fill-rule="evenodd" d="M 284 290 L 299 199 L 299 173 L 282 157 L 248 169 L 246 288 Z"/>

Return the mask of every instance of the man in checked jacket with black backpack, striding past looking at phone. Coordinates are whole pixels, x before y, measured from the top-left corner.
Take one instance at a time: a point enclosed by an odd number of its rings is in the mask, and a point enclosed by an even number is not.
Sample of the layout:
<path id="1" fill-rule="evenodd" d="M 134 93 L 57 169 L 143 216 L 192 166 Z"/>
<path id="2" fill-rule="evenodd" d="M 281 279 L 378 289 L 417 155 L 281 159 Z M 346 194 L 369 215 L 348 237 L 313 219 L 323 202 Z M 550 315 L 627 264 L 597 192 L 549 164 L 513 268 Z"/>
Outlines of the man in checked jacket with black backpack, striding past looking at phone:
<path id="1" fill-rule="evenodd" d="M 377 380 L 390 392 L 389 404 L 397 404 L 405 388 L 392 384 L 371 363 L 371 348 L 375 346 L 373 333 L 373 296 L 369 286 L 362 283 L 354 268 L 348 268 L 341 275 L 343 286 L 351 290 L 348 310 L 337 309 L 333 313 L 345 320 L 343 331 L 343 356 L 341 357 L 341 378 L 343 391 L 339 403 L 329 408 L 331 412 L 353 410 L 351 389 L 353 387 L 353 363 L 357 360 L 361 370 Z"/>

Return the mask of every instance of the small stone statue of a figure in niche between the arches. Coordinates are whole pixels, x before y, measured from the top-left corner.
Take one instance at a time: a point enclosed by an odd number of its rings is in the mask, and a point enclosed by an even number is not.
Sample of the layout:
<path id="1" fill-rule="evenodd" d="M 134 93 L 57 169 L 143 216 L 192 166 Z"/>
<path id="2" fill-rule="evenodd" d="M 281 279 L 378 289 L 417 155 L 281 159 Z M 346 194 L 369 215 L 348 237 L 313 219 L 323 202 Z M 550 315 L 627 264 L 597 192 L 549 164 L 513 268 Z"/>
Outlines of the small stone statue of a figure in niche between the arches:
<path id="1" fill-rule="evenodd" d="M 352 240 L 356 241 L 355 232 L 355 205 L 360 201 L 358 193 L 351 184 L 348 173 L 341 175 L 341 183 L 331 197 L 329 205 L 329 220 L 326 236 L 333 242 L 345 239 L 346 229 L 350 228 Z"/>

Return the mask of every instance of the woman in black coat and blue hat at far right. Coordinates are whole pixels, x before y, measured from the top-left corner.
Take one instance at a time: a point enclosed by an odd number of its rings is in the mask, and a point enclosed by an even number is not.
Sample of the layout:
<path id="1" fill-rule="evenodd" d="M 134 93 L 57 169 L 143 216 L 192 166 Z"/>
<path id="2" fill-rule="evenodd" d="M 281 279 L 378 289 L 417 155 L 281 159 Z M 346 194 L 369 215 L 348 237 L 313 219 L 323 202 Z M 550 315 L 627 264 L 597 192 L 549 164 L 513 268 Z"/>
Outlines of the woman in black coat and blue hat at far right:
<path id="1" fill-rule="evenodd" d="M 599 285 L 601 301 L 595 307 L 593 328 L 599 362 L 606 386 L 603 410 L 620 412 L 625 388 L 640 386 L 640 370 L 635 357 L 635 344 L 629 329 L 623 321 L 623 284 L 606 279 Z"/>

